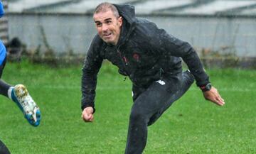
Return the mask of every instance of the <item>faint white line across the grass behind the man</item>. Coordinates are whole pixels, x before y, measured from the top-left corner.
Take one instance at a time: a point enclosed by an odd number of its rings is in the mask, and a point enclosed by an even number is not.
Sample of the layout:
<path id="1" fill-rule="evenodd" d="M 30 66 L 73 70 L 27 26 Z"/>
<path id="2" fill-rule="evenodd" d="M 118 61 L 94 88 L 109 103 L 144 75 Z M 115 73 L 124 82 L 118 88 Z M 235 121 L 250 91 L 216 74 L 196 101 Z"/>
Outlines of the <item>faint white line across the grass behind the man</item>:
<path id="1" fill-rule="evenodd" d="M 44 88 L 44 89 L 81 89 L 80 86 L 30 86 L 31 88 L 32 87 L 35 87 L 35 88 Z M 117 86 L 107 86 L 107 87 L 97 87 L 97 90 L 129 90 L 131 89 L 132 90 L 132 87 L 117 87 Z M 198 88 L 195 88 L 195 87 L 191 87 L 189 90 L 192 90 L 192 91 L 197 91 L 197 90 L 200 90 Z M 252 89 L 252 88 L 239 88 L 239 87 L 235 87 L 235 88 L 218 88 L 218 90 L 221 92 L 256 92 L 256 89 Z"/>

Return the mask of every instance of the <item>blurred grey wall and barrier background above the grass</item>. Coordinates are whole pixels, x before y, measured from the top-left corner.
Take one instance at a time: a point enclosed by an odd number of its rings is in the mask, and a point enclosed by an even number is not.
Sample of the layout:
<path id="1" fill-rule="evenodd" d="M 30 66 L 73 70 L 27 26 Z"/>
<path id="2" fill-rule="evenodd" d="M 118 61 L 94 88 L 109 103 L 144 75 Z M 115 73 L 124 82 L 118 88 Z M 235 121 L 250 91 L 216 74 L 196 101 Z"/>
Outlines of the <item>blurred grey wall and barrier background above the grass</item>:
<path id="1" fill-rule="evenodd" d="M 101 0 L 3 1 L 0 37 L 10 59 L 28 55 L 75 62 L 96 34 L 92 12 Z M 154 21 L 191 43 L 204 65 L 252 67 L 256 63 L 255 0 L 110 0 L 132 4 L 137 16 Z M 67 61 L 67 60 L 65 60 Z M 72 61 L 72 60 L 71 60 Z"/>

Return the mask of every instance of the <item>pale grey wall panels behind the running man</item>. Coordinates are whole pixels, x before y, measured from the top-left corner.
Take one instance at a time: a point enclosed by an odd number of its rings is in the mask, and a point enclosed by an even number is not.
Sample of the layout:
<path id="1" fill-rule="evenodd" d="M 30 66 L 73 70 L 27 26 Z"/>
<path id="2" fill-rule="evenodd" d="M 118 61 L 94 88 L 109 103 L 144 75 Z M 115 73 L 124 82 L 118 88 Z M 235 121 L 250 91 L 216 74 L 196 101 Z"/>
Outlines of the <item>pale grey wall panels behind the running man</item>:
<path id="1" fill-rule="evenodd" d="M 197 50 L 256 57 L 255 18 L 143 17 Z M 91 15 L 11 13 L 8 18 L 9 37 L 20 38 L 29 50 L 41 46 L 41 50 L 50 47 L 59 55 L 69 51 L 85 54 L 96 34 Z"/>

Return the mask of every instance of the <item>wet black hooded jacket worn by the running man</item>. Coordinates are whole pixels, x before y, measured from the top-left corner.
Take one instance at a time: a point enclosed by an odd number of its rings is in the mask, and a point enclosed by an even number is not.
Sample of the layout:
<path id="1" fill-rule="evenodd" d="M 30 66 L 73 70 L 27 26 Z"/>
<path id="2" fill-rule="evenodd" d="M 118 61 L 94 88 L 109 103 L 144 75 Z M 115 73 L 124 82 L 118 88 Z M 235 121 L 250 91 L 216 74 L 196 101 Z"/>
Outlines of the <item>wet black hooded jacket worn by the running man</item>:
<path id="1" fill-rule="evenodd" d="M 123 24 L 117 45 L 108 45 L 99 35 L 92 40 L 82 68 L 82 109 L 94 108 L 97 73 L 107 59 L 139 87 L 182 71 L 181 58 L 188 65 L 198 86 L 209 83 L 196 51 L 191 45 L 174 38 L 155 23 L 136 18 L 134 7 L 116 5 Z"/>

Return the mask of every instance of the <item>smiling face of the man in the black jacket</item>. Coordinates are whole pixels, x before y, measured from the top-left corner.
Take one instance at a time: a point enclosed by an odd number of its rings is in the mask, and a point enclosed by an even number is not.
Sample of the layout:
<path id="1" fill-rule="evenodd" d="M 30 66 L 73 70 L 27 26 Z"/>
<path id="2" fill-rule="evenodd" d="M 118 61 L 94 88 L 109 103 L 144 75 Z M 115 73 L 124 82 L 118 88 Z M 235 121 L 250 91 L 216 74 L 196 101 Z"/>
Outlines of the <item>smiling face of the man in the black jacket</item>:
<path id="1" fill-rule="evenodd" d="M 121 33 L 122 17 L 117 18 L 111 10 L 95 13 L 93 19 L 97 33 L 105 43 L 117 45 Z"/>

